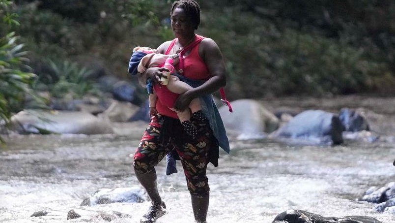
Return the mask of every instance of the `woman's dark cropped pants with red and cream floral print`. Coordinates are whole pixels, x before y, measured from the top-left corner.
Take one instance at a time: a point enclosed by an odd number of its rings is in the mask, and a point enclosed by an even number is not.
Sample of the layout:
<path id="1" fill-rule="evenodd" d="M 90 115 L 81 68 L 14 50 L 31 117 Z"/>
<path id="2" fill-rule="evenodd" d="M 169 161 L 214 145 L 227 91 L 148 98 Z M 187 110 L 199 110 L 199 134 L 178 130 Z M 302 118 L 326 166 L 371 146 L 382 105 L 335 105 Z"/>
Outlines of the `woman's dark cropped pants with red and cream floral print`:
<path id="1" fill-rule="evenodd" d="M 197 117 L 201 116 L 194 114 L 191 118 L 192 124 L 198 129 L 195 138 L 186 134 L 178 119 L 161 115 L 151 117 L 134 155 L 135 170 L 142 174 L 148 173 L 166 154 L 176 151 L 181 159 L 190 193 L 197 197 L 208 196 L 208 153 L 212 146 L 217 146 L 217 141 L 207 119 L 200 120 Z"/>

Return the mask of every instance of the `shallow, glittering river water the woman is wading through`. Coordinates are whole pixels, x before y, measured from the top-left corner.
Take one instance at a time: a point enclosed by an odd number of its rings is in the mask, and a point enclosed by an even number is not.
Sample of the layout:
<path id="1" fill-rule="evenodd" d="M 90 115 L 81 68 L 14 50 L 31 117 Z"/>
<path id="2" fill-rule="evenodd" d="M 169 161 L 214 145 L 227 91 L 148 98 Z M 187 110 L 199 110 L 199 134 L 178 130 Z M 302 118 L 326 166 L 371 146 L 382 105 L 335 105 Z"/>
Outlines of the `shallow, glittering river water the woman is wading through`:
<path id="1" fill-rule="evenodd" d="M 0 149 L 0 223 L 105 223 L 96 213 L 129 215 L 115 223 L 138 223 L 149 201 L 80 206 L 102 188 L 140 187 L 130 154 L 145 123 L 122 124 L 112 135 L 10 135 Z M 130 126 L 127 126 L 130 125 Z M 395 181 L 391 142 L 307 146 L 274 140 L 237 141 L 208 168 L 209 223 L 271 223 L 281 212 L 301 209 L 322 216 L 371 216 L 394 223 L 395 213 L 374 211 L 359 201 L 371 186 Z M 182 173 L 157 167 L 158 187 L 169 214 L 158 223 L 193 223 Z M 80 219 L 66 220 L 74 209 Z M 30 217 L 45 210 L 47 216 Z"/>

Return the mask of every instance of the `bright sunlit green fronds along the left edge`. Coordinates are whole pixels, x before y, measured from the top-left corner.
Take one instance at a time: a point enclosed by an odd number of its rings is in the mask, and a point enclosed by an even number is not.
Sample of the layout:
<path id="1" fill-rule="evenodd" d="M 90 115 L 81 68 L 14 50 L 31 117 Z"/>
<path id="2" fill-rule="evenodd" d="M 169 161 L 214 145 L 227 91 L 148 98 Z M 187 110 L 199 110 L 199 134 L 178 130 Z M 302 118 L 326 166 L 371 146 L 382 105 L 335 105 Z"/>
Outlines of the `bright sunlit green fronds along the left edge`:
<path id="1" fill-rule="evenodd" d="M 24 44 L 18 43 L 19 36 L 9 32 L 13 25 L 19 25 L 18 15 L 11 12 L 12 2 L 0 0 L 0 124 L 7 127 L 14 112 L 23 109 L 25 96 L 29 95 L 38 106 L 43 99 L 32 91 L 36 75 L 28 72 L 30 67 L 23 51 Z M 0 137 L 0 142 L 4 143 Z"/>

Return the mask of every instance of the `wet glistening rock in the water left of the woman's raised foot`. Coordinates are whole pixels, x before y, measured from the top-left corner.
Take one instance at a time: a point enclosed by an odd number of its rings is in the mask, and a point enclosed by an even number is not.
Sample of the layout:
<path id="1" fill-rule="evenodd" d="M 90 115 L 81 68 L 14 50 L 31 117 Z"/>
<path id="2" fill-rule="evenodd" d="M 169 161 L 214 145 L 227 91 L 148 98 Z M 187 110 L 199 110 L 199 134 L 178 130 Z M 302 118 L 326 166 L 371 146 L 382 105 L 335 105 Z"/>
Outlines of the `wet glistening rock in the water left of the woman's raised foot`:
<path id="1" fill-rule="evenodd" d="M 100 189 L 86 197 L 81 206 L 93 206 L 116 202 L 141 203 L 145 201 L 145 191 L 137 187 Z"/>

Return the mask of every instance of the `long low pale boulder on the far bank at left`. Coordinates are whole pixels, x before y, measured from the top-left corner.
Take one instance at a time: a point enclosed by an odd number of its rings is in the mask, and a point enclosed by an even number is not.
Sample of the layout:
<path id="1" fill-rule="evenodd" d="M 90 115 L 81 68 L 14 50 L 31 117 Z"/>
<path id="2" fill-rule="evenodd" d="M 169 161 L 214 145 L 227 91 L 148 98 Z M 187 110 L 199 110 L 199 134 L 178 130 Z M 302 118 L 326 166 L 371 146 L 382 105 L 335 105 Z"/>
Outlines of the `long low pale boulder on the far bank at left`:
<path id="1" fill-rule="evenodd" d="M 109 121 L 83 111 L 23 110 L 11 118 L 11 130 L 26 133 L 113 133 Z"/>

